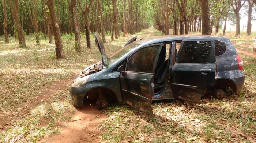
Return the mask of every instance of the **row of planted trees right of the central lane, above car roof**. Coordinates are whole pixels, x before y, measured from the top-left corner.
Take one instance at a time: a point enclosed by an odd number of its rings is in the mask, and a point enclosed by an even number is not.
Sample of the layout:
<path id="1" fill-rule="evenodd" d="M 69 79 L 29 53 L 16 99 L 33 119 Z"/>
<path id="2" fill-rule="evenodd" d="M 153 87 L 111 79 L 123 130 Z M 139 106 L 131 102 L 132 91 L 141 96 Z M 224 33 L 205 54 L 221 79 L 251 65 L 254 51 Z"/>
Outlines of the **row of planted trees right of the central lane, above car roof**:
<path id="1" fill-rule="evenodd" d="M 222 24 L 223 35 L 229 18 L 236 24 L 236 35 L 240 35 L 240 9 L 244 6 L 247 12 L 247 34 L 251 35 L 252 8 L 256 0 L 154 0 L 154 27 L 169 35 L 188 34 L 189 31 L 202 34 L 219 32 Z"/>

